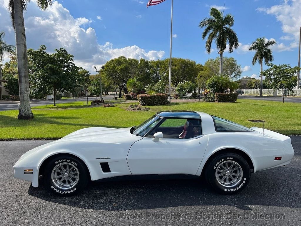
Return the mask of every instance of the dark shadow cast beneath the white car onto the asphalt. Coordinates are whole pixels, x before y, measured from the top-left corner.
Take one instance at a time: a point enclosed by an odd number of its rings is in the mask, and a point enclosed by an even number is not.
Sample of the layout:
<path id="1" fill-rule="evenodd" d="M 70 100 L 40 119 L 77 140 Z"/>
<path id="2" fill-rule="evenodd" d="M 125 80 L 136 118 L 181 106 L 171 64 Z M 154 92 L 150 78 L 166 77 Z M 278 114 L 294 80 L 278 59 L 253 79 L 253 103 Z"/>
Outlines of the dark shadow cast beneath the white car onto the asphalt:
<path id="1" fill-rule="evenodd" d="M 252 205 L 300 208 L 301 182 L 298 168 L 274 168 L 251 175 L 246 189 L 235 195 L 215 193 L 203 180 L 130 180 L 91 182 L 76 196 L 59 197 L 40 186 L 28 194 L 67 206 L 124 211 L 177 206 L 234 206 L 252 210 Z"/>

